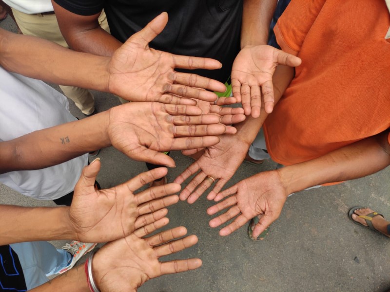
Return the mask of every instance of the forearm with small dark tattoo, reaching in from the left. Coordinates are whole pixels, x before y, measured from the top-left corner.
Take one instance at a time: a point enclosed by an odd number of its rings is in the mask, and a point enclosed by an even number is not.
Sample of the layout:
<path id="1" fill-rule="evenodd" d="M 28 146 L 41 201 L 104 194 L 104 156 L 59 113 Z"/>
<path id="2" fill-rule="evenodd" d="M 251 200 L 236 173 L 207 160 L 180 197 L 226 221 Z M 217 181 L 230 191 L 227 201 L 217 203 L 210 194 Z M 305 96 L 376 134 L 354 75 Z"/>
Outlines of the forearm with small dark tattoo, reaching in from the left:
<path id="1" fill-rule="evenodd" d="M 0 173 L 40 169 L 111 146 L 109 112 L 46 128 L 0 143 Z"/>

